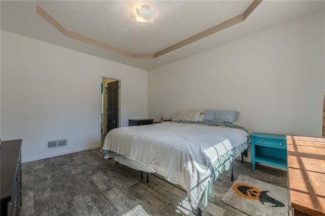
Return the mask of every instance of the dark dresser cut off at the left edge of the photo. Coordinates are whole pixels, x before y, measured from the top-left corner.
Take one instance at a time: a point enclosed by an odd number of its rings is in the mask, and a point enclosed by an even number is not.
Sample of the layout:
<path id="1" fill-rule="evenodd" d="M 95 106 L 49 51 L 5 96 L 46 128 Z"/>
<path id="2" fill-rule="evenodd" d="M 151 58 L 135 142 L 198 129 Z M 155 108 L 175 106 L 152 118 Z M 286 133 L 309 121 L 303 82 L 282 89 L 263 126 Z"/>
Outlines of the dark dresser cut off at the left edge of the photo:
<path id="1" fill-rule="evenodd" d="M 19 215 L 22 139 L 1 142 L 1 216 Z"/>

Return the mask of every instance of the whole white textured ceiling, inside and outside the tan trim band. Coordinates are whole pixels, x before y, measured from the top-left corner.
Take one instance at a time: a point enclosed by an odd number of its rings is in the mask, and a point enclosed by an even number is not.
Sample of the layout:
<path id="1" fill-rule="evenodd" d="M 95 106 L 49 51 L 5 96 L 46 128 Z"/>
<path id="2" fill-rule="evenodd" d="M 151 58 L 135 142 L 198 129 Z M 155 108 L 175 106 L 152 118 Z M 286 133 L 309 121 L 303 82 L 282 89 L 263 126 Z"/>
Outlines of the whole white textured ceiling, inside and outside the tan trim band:
<path id="1" fill-rule="evenodd" d="M 154 59 L 132 59 L 64 36 L 36 14 L 36 4 L 64 28 L 130 53 L 155 53 L 243 13 L 253 1 L 1 1 L 1 29 L 80 52 L 151 69 L 324 10 L 324 1 L 263 1 L 243 22 Z M 155 9 L 153 23 L 132 8 Z"/>

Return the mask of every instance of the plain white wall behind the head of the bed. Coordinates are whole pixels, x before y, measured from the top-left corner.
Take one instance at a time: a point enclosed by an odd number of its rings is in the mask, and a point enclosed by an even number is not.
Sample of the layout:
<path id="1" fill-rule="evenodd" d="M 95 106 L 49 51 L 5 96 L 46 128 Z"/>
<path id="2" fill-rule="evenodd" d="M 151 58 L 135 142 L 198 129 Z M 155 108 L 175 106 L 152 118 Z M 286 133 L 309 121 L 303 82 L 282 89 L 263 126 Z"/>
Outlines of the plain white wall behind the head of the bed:
<path id="1" fill-rule="evenodd" d="M 238 110 L 250 132 L 321 136 L 324 11 L 148 71 L 148 117 Z"/>

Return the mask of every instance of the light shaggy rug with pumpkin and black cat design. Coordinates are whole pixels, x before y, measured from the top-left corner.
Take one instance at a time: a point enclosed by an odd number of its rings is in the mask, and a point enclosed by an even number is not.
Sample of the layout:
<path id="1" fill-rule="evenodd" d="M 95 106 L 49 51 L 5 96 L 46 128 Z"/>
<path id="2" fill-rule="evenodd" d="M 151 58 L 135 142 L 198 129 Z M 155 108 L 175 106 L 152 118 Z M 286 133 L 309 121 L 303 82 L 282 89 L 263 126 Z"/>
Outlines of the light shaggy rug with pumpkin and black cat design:
<path id="1" fill-rule="evenodd" d="M 248 215 L 288 214 L 287 189 L 245 175 L 238 176 L 221 200 Z"/>

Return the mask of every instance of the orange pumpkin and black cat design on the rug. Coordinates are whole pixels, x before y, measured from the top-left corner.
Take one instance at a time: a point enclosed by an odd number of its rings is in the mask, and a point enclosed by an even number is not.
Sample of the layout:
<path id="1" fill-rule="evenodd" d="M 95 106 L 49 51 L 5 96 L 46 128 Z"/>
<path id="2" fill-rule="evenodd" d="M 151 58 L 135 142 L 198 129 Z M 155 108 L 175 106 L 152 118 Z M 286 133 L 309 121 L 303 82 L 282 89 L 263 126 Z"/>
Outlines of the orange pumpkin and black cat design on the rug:
<path id="1" fill-rule="evenodd" d="M 282 202 L 267 195 L 269 191 L 262 191 L 254 186 L 244 183 L 237 183 L 233 185 L 233 190 L 239 196 L 244 197 L 246 199 L 259 201 L 263 205 L 265 202 L 268 202 L 273 204 L 272 207 L 284 207 L 284 204 Z"/>

